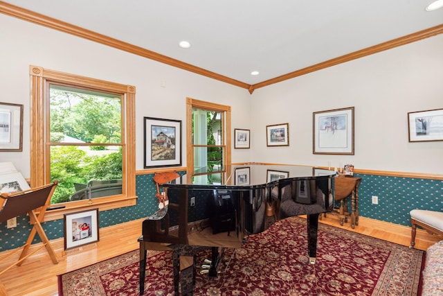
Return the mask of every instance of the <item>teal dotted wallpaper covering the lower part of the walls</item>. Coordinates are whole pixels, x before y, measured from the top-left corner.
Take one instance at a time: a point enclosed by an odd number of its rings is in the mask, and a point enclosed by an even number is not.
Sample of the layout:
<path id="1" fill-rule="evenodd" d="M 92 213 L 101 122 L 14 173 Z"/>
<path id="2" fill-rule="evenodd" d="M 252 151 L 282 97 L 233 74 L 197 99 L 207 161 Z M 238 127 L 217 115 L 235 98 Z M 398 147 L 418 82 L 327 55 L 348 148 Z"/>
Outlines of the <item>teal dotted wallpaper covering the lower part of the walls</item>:
<path id="1" fill-rule="evenodd" d="M 183 173 L 181 172 L 181 175 Z M 442 180 L 363 174 L 355 176 L 362 178 L 359 188 L 360 216 L 409 226 L 411 209 L 443 211 Z M 136 206 L 100 212 L 100 227 L 154 214 L 157 202 L 156 186 L 152 177 L 152 174 L 137 175 Z M 379 197 L 379 204 L 371 204 L 372 195 Z M 26 215 L 17 217 L 17 227 L 11 229 L 6 228 L 6 223 L 0 223 L 0 252 L 21 247 L 26 243 L 31 229 L 28 220 Z M 50 240 L 64 236 L 63 219 L 43 223 L 43 227 Z M 39 241 L 39 236 L 36 235 L 33 243 Z"/>

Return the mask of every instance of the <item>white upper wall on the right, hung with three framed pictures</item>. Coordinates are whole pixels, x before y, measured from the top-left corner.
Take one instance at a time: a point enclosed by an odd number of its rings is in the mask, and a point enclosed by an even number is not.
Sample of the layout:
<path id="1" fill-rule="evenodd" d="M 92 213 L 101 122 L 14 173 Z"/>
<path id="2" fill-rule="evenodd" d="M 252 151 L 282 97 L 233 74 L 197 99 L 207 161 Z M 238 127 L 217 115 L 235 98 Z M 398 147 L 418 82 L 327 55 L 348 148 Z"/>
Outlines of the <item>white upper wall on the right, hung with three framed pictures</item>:
<path id="1" fill-rule="evenodd" d="M 259 162 L 443 173 L 443 141 L 408 142 L 408 112 L 443 108 L 443 35 L 309 73 L 253 93 Z M 271 106 L 271 107 L 269 107 Z M 355 107 L 355 155 L 312 153 L 313 112 Z M 266 125 L 289 123 L 289 147 L 266 147 Z"/>

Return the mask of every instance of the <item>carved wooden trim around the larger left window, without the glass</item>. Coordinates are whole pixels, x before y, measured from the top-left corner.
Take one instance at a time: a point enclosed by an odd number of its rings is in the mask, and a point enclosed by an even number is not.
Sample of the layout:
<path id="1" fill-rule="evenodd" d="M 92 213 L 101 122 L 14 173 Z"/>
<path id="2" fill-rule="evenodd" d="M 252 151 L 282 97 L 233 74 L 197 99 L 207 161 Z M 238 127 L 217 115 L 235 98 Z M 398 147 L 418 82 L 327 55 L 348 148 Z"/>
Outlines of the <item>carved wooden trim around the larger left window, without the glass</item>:
<path id="1" fill-rule="evenodd" d="M 99 211 L 128 207 L 136 204 L 136 162 L 135 151 L 135 98 L 136 88 L 132 85 L 122 85 L 115 82 L 87 78 L 84 76 L 62 73 L 42 67 L 30 66 L 30 186 L 31 188 L 42 186 L 50 182 L 48 180 L 48 164 L 46 153 L 48 149 L 45 143 L 45 84 L 46 81 L 60 82 L 89 87 L 102 91 L 123 94 L 122 107 L 124 108 L 122 121 L 124 122 L 123 139 L 123 192 L 122 195 L 112 195 L 105 198 L 78 200 L 64 202 L 57 206 L 63 209 L 46 211 L 44 221 L 64 218 L 64 214 L 74 211 L 98 208 Z M 43 169 L 42 169 L 43 168 Z"/>

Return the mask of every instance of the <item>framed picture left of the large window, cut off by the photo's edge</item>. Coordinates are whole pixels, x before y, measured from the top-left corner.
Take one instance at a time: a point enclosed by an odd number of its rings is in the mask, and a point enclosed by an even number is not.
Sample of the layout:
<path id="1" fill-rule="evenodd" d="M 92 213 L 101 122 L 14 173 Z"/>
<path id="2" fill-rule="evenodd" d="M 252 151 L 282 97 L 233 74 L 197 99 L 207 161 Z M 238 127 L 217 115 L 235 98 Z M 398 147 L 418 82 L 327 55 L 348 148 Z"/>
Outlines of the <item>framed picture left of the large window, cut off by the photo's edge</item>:
<path id="1" fill-rule="evenodd" d="M 23 105 L 0 103 L 0 151 L 22 151 Z"/>

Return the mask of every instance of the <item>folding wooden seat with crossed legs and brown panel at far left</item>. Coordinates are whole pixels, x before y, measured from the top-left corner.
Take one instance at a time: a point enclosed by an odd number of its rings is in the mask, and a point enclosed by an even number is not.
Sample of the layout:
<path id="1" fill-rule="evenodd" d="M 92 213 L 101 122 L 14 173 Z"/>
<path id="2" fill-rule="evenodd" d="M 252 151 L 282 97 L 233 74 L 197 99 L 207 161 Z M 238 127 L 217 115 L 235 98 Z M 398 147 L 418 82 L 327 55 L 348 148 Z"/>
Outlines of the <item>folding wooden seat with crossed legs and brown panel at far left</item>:
<path id="1" fill-rule="evenodd" d="M 1 270 L 0 275 L 2 275 L 3 272 L 6 272 L 6 270 L 12 268 L 12 266 L 14 265 L 21 265 L 21 263 L 26 258 L 28 258 L 28 256 L 34 254 L 42 247 L 46 247 L 46 250 L 48 251 L 49 256 L 51 256 L 53 263 L 54 264 L 58 263 L 57 256 L 55 256 L 53 247 L 51 246 L 51 243 L 49 243 L 48 237 L 44 233 L 44 229 L 40 224 L 43 221 L 46 208 L 51 204 L 51 197 L 55 191 L 57 183 L 58 183 L 57 181 L 54 181 L 51 184 L 39 186 L 34 189 L 29 189 L 26 191 L 20 191 L 9 194 L 2 193 L 0 195 L 0 198 L 3 199 L 3 206 L 0 211 L 0 222 L 5 222 L 10 218 L 14 218 L 27 213 L 29 216 L 30 224 L 33 225 L 33 229 L 31 229 L 31 232 L 28 236 L 28 241 L 26 241 L 26 244 L 24 246 L 19 247 L 19 249 L 17 249 L 17 251 L 23 249 L 21 250 L 21 255 L 19 257 L 19 260 L 16 263 L 9 265 L 4 270 Z M 36 214 L 37 211 L 38 214 Z M 40 238 L 42 239 L 43 245 L 41 247 L 36 248 L 36 250 L 33 250 L 33 252 L 28 254 L 29 247 L 33 242 L 36 233 L 38 233 Z M 14 252 L 12 252 L 11 254 L 14 254 Z M 3 256 L 3 258 L 1 258 L 0 261 L 10 256 L 11 254 Z"/>

